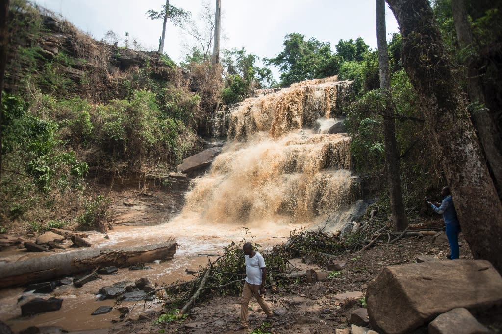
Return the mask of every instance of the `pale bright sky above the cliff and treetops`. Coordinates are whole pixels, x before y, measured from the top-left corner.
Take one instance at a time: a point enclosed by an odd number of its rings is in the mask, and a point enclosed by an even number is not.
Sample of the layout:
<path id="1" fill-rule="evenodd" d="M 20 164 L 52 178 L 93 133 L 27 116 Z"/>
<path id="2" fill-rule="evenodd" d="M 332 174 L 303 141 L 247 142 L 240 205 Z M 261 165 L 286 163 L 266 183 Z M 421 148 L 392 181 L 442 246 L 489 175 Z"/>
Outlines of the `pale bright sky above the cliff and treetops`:
<path id="1" fill-rule="evenodd" d="M 128 32 L 146 50 L 158 50 L 162 20 L 145 13 L 160 11 L 164 0 L 34 0 L 60 14 L 94 39 L 111 30 L 121 38 Z M 202 10 L 201 0 L 170 0 L 170 5 L 190 11 L 194 18 Z M 210 0 L 212 7 L 216 0 Z M 329 42 L 335 52 L 340 39 L 362 37 L 376 48 L 375 0 L 221 0 L 222 49 L 240 49 L 261 58 L 273 58 L 283 50 L 284 37 L 291 33 Z M 391 10 L 386 8 L 387 34 L 399 32 Z M 190 44 L 189 37 L 168 23 L 164 52 L 180 62 Z M 388 37 L 388 40 L 390 36 Z M 119 44 L 120 46 L 120 44 Z M 277 70 L 274 71 L 277 76 Z"/>

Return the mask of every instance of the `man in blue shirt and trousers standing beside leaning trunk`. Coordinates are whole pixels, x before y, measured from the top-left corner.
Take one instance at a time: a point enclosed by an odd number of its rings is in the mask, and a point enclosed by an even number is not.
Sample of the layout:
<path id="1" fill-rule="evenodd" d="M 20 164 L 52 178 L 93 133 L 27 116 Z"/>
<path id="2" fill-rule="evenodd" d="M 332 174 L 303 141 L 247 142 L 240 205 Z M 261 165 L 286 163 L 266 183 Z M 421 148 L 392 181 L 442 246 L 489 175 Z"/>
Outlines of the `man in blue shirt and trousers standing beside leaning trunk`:
<path id="1" fill-rule="evenodd" d="M 455 211 L 455 206 L 453 205 L 453 199 L 451 198 L 450 188 L 444 187 L 441 190 L 441 195 L 443 195 L 444 198 L 441 204 L 438 202 L 427 203 L 431 205 L 434 211 L 443 215 L 446 225 L 446 236 L 450 243 L 450 255 L 446 257 L 453 260 L 458 258 L 460 252 L 458 249 L 458 232 L 460 230 L 460 224 L 457 218 L 457 211 Z"/>

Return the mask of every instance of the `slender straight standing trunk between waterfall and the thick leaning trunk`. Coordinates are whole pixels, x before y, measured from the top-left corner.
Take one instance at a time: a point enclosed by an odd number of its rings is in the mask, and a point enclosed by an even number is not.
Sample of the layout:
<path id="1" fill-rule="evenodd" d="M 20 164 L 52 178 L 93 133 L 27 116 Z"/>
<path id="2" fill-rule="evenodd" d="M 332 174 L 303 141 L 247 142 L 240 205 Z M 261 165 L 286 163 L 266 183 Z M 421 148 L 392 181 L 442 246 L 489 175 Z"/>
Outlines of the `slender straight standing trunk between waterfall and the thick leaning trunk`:
<path id="1" fill-rule="evenodd" d="M 401 175 L 399 172 L 399 151 L 396 141 L 396 121 L 391 108 L 391 72 L 389 70 L 389 52 L 385 33 L 385 0 L 376 0 L 376 41 L 380 67 L 380 87 L 388 93 L 384 110 L 384 142 L 387 180 L 391 198 L 392 221 L 396 231 L 404 231 L 408 226 L 403 194 L 401 192 Z"/>

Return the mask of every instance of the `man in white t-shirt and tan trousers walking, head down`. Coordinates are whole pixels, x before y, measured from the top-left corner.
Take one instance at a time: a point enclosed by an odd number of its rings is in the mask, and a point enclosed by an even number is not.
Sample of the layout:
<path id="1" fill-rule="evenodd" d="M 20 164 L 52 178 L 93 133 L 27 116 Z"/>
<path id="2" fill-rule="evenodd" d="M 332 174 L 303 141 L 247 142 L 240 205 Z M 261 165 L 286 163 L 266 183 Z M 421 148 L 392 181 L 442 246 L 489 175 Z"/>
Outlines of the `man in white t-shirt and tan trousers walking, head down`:
<path id="1" fill-rule="evenodd" d="M 240 326 L 241 328 L 247 328 L 247 304 L 252 295 L 255 295 L 258 303 L 262 306 L 265 314 L 267 314 L 267 319 L 272 318 L 274 312 L 272 312 L 262 296 L 265 293 L 265 278 L 267 277 L 267 268 L 262 254 L 254 251 L 250 242 L 244 243 L 242 251 L 246 262 L 246 278 L 240 303 Z"/>

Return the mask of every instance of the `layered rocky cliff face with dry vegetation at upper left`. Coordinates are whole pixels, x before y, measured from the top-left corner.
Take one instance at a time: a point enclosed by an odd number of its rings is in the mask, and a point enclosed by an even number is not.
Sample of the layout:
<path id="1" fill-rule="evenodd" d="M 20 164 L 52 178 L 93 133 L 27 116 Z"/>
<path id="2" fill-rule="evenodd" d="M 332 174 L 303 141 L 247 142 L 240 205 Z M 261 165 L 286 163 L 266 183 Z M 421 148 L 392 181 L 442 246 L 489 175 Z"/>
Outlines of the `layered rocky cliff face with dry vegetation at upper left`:
<path id="1" fill-rule="evenodd" d="M 181 69 L 157 52 L 93 40 L 39 9 L 11 8 L 9 43 L 5 90 L 14 94 L 25 92 L 35 81 L 42 93 L 103 102 L 127 97 L 150 80 L 182 76 Z"/>

